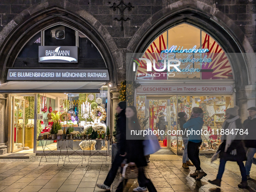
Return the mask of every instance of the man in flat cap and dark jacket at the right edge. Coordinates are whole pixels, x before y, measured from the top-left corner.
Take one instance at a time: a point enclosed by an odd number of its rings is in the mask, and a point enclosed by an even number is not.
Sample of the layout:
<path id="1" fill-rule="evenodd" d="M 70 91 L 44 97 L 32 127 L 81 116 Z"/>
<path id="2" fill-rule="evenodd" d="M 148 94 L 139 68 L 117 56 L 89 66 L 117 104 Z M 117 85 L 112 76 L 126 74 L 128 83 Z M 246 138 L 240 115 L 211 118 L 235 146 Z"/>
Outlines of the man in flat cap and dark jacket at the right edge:
<path id="1" fill-rule="evenodd" d="M 243 127 L 247 129 L 248 134 L 245 134 L 244 144 L 248 148 L 245 162 L 246 176 L 250 179 L 250 170 L 253 163 L 253 156 L 256 153 L 256 107 L 250 107 L 248 110 L 249 117 L 243 122 Z"/>

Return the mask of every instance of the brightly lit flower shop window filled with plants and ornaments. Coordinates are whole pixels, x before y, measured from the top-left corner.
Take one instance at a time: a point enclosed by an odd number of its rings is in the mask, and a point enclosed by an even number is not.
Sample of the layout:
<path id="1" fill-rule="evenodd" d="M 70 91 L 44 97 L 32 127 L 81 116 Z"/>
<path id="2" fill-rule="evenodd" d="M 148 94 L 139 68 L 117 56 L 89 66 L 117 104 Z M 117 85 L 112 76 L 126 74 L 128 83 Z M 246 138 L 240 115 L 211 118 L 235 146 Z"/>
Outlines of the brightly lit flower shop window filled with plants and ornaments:
<path id="1" fill-rule="evenodd" d="M 79 152 L 83 151 L 81 146 L 84 150 L 106 150 L 107 142 L 102 139 L 109 132 L 107 93 L 103 86 L 100 93 L 38 94 L 36 151 L 68 147 Z M 99 140 L 89 142 L 86 138 Z"/>

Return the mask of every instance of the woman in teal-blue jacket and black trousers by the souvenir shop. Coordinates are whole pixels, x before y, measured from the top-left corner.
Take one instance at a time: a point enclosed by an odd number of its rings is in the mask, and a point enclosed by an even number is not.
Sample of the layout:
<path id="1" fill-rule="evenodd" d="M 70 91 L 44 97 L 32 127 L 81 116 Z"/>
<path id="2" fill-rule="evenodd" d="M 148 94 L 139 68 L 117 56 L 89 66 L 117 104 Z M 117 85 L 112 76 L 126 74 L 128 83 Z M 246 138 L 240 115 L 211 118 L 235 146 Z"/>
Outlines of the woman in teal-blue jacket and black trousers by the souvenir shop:
<path id="1" fill-rule="evenodd" d="M 201 169 L 199 159 L 199 149 L 202 144 L 201 129 L 204 125 L 203 117 L 203 110 L 199 107 L 193 107 L 190 119 L 183 125 L 183 128 L 191 131 L 188 137 L 188 158 L 196 167 L 195 172 L 190 174 L 190 176 L 196 177 L 196 180 L 201 180 L 204 176 L 207 176 L 204 170 Z M 200 134 L 197 134 L 197 131 L 200 131 Z"/>

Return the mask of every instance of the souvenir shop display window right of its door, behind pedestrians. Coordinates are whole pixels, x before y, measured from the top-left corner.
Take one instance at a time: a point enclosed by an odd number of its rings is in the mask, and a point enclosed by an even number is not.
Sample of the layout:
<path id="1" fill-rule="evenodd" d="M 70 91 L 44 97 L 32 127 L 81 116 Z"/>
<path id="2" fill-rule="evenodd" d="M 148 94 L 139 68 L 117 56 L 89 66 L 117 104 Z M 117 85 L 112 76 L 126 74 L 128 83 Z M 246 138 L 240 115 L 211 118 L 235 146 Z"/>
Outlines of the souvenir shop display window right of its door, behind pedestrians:
<path id="1" fill-rule="evenodd" d="M 200 147 L 200 152 L 214 153 L 220 145 L 220 129 L 225 120 L 226 109 L 233 106 L 232 96 L 177 96 L 177 111 L 185 112 L 188 119 L 191 116 L 193 107 L 200 107 L 204 113 L 204 125 L 201 138 L 203 140 Z M 171 130 L 181 130 L 177 115 L 171 116 L 174 123 L 171 125 Z M 172 150 L 177 153 L 184 150 L 184 145 L 181 135 L 173 135 L 171 139 Z"/>

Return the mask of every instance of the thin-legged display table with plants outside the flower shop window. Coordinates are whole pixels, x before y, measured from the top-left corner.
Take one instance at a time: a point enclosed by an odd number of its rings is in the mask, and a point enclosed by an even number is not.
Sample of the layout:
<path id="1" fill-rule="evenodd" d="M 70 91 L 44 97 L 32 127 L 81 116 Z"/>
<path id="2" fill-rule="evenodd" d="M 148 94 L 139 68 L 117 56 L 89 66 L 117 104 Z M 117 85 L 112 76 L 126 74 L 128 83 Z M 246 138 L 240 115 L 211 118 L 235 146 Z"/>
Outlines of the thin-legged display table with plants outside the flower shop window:
<path id="1" fill-rule="evenodd" d="M 86 148 L 86 145 L 89 143 L 90 147 L 89 147 L 89 157 L 88 157 L 88 164 L 87 165 L 89 165 L 90 158 L 92 156 L 94 156 L 95 154 L 97 154 L 97 153 L 106 157 L 106 165 L 107 165 L 107 150 L 109 149 L 109 140 L 106 140 L 106 139 L 89 139 L 89 140 L 86 140 L 86 139 L 79 139 L 79 140 L 78 139 L 74 139 L 74 140 L 73 139 L 59 139 L 59 140 L 58 139 L 55 139 L 55 140 L 52 140 L 52 139 L 37 139 L 36 141 L 39 141 L 39 143 L 41 143 L 42 149 L 43 149 L 42 157 L 45 157 L 45 160 L 47 162 L 55 162 L 55 161 L 48 161 L 47 158 L 46 158 L 46 156 L 48 156 L 48 155 L 51 155 L 51 154 L 56 155 L 58 157 L 58 163 L 59 163 L 59 160 L 60 160 L 61 156 L 65 155 L 65 158 L 62 157 L 62 161 L 64 161 L 64 163 L 63 163 L 63 166 L 64 166 L 65 163 L 66 163 L 66 158 L 68 158 L 68 161 L 70 162 L 70 159 L 71 159 L 70 156 L 72 154 L 77 154 L 80 157 L 82 157 L 81 160 L 80 161 L 72 161 L 72 162 L 81 162 L 82 163 L 81 166 L 83 166 L 83 161 L 86 161 L 84 151 L 87 151 L 86 149 L 88 149 L 88 148 Z M 47 143 L 49 144 L 49 142 L 51 142 L 51 141 L 57 141 L 57 148 L 54 149 L 54 150 L 51 150 L 49 147 L 47 147 Z M 73 145 L 73 141 L 80 142 L 80 144 L 79 144 L 80 147 L 75 147 L 74 148 L 75 145 Z M 92 143 L 95 142 L 95 141 L 105 141 L 105 142 L 107 141 L 107 146 L 105 146 L 106 155 L 104 155 L 102 152 L 100 152 L 101 149 L 100 150 L 95 149 L 95 145 L 92 145 Z M 49 152 L 47 153 L 45 151 L 45 149 L 48 149 Z M 55 153 L 56 150 L 60 151 L 60 155 L 57 155 Z M 66 153 L 65 152 L 63 153 L 62 150 L 66 150 Z M 82 155 L 81 155 L 81 153 L 78 153 L 78 150 L 83 150 Z M 92 153 L 91 150 L 94 150 L 95 153 Z M 69 151 L 71 153 L 68 153 Z M 39 166 L 40 166 L 40 163 L 42 162 L 42 157 L 40 158 Z M 91 162 L 92 162 L 92 158 L 91 158 Z M 58 163 L 57 163 L 57 166 L 58 166 Z"/>

